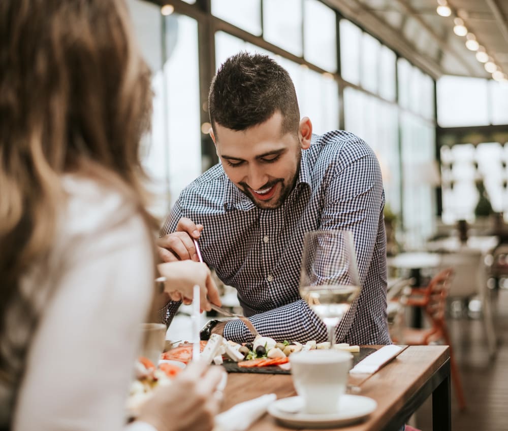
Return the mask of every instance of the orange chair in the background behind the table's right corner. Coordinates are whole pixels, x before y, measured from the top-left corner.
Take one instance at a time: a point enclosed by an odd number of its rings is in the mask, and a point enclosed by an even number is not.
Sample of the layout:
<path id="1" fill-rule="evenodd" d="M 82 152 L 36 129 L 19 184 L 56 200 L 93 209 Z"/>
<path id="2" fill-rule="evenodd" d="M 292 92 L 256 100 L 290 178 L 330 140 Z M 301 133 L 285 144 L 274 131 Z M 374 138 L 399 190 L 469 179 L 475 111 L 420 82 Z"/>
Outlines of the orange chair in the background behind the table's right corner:
<path id="1" fill-rule="evenodd" d="M 459 408 L 463 410 L 466 402 L 445 319 L 446 298 L 453 276 L 452 268 L 443 269 L 430 280 L 425 288 L 412 288 L 408 296 L 400 298 L 400 302 L 404 305 L 422 307 L 431 324 L 430 328 L 424 329 L 403 328 L 400 342 L 411 346 L 424 346 L 444 340 L 450 346 L 452 380 L 457 392 Z M 394 342 L 396 343 L 397 340 Z"/>

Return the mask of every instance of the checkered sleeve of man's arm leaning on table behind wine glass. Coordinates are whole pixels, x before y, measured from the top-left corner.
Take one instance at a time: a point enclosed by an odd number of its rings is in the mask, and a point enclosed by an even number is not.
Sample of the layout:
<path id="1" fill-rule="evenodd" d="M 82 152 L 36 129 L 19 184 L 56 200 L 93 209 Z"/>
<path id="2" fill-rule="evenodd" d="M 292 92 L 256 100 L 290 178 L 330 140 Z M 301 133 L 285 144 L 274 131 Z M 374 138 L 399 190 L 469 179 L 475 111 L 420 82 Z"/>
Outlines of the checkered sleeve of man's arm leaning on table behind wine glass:
<path id="1" fill-rule="evenodd" d="M 344 163 L 327 187 L 320 229 L 353 232 L 359 276 L 363 285 L 360 297 L 335 330 L 337 342 L 365 344 L 362 341 L 368 339 L 366 335 L 348 334 L 355 315 L 361 307 L 368 306 L 370 301 L 386 302 L 386 290 L 383 298 L 383 291 L 365 285 L 376 240 L 379 238 L 379 217 L 383 205 L 383 183 L 379 164 L 370 152 Z M 249 319 L 259 333 L 277 341 L 327 340 L 325 325 L 303 300 L 256 314 Z M 237 342 L 253 339 L 240 320 L 228 322 L 224 335 Z"/>

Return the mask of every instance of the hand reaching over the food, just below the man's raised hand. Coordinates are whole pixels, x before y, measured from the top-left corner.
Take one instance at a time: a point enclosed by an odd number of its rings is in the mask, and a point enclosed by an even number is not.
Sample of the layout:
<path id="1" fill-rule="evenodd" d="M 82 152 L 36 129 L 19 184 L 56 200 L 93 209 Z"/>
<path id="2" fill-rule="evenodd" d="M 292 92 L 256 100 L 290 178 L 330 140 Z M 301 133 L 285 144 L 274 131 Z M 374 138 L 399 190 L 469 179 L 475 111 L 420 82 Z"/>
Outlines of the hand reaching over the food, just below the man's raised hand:
<path id="1" fill-rule="evenodd" d="M 200 305 L 203 310 L 210 310 L 210 302 L 220 306 L 217 286 L 206 264 L 186 260 L 161 263 L 157 268 L 166 277 L 164 291 L 173 301 L 182 300 L 184 304 L 190 304 L 197 284 L 200 287 Z"/>

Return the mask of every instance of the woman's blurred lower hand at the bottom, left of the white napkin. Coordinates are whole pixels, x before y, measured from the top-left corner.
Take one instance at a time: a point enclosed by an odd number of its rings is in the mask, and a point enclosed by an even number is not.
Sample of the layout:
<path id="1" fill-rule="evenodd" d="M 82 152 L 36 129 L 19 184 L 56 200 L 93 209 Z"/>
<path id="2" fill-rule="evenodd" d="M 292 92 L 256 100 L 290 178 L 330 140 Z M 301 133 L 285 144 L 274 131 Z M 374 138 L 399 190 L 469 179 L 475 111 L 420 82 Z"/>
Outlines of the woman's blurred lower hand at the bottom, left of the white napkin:
<path id="1" fill-rule="evenodd" d="M 168 386 L 159 386 L 143 405 L 138 420 L 157 431 L 210 431 L 222 400 L 217 384 L 222 367 L 191 363 Z"/>

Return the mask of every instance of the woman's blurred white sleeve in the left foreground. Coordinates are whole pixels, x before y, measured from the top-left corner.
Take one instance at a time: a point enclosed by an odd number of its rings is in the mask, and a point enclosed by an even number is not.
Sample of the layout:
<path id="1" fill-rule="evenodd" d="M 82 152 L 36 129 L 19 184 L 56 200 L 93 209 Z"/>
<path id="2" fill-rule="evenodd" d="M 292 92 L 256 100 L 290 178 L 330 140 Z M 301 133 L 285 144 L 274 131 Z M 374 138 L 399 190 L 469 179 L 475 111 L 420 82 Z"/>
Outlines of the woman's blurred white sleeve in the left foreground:
<path id="1" fill-rule="evenodd" d="M 111 214 L 108 214 L 111 215 Z M 83 217 L 87 217 L 86 214 Z M 113 431 L 153 295 L 153 250 L 139 216 L 73 237 L 31 340 L 14 431 Z"/>

